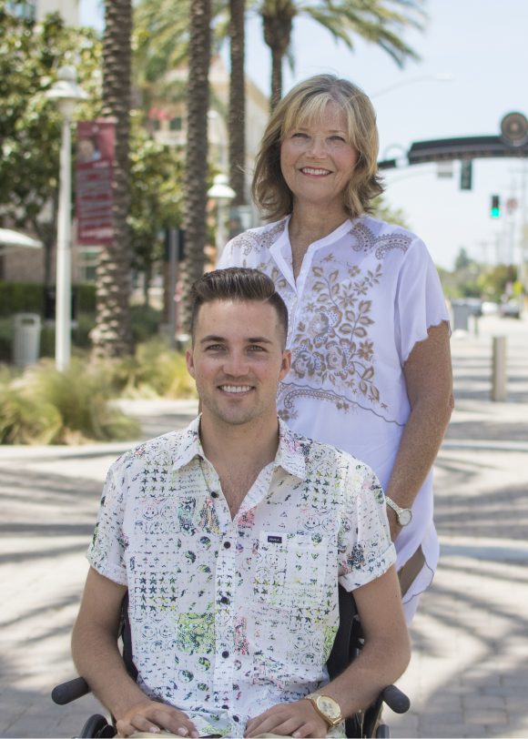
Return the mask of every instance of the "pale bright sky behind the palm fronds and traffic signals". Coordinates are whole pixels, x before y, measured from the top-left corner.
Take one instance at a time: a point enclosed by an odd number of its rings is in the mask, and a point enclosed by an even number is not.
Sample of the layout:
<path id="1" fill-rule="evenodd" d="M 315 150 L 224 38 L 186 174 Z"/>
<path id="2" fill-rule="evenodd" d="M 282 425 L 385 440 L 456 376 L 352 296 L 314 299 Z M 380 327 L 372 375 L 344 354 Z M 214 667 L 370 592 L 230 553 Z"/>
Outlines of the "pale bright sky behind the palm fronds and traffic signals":
<path id="1" fill-rule="evenodd" d="M 82 23 L 102 25 L 100 0 L 80 0 Z M 294 21 L 294 70 L 284 68 L 284 92 L 311 75 L 347 77 L 371 96 L 380 129 L 380 158 L 401 157 L 411 143 L 435 138 L 500 133 L 503 116 L 528 116 L 528 3 L 525 0 L 427 0 L 424 32 L 404 39 L 419 54 L 400 69 L 381 49 L 358 40 L 354 50 L 336 44 L 310 19 Z M 247 75 L 269 94 L 269 49 L 258 16 L 247 23 Z M 451 76 L 448 81 L 439 76 Z M 521 158 L 475 159 L 472 190 L 453 177 L 438 177 L 436 164 L 399 167 L 384 174 L 387 202 L 427 244 L 435 263 L 453 268 L 461 248 L 488 264 L 521 258 L 523 202 L 528 199 L 528 162 Z M 501 218 L 490 217 L 492 195 Z M 517 207 L 506 213 L 505 202 Z"/>

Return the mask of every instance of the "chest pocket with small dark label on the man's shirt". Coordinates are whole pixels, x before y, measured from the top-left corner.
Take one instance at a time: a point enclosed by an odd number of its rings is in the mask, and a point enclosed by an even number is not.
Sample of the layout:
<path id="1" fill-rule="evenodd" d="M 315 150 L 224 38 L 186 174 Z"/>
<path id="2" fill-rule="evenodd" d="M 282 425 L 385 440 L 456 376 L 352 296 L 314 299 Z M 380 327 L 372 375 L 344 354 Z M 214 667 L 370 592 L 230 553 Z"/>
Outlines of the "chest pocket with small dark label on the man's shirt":
<path id="1" fill-rule="evenodd" d="M 320 534 L 259 533 L 253 592 L 276 608 L 306 608 L 324 594 L 328 542 Z"/>

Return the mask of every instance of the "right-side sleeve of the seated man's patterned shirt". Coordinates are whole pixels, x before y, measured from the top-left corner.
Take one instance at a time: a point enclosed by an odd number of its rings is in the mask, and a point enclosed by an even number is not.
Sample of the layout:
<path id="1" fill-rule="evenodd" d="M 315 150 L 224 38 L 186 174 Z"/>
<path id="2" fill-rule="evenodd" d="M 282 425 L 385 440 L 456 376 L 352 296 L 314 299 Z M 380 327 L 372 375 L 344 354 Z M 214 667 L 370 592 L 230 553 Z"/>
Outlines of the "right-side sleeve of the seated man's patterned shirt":
<path id="1" fill-rule="evenodd" d="M 353 591 L 371 582 L 396 562 L 385 496 L 369 467 L 351 460 L 346 481 L 345 505 L 338 535 L 339 582 Z"/>

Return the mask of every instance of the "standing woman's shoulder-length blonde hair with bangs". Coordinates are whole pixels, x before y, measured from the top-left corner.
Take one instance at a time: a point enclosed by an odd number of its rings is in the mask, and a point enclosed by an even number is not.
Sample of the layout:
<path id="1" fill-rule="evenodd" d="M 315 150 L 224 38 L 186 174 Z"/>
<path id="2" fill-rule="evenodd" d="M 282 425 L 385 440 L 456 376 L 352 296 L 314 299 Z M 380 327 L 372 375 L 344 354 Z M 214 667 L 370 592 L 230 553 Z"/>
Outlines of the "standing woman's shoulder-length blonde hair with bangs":
<path id="1" fill-rule="evenodd" d="M 251 192 L 269 220 L 284 218 L 293 209 L 293 196 L 280 170 L 282 141 L 293 128 L 320 120 L 329 103 L 336 103 L 345 114 L 350 144 L 359 154 L 353 177 L 343 192 L 343 205 L 350 218 L 371 212 L 372 200 L 383 192 L 378 174 L 378 127 L 371 100 L 346 79 L 313 76 L 280 100 L 262 137 Z"/>

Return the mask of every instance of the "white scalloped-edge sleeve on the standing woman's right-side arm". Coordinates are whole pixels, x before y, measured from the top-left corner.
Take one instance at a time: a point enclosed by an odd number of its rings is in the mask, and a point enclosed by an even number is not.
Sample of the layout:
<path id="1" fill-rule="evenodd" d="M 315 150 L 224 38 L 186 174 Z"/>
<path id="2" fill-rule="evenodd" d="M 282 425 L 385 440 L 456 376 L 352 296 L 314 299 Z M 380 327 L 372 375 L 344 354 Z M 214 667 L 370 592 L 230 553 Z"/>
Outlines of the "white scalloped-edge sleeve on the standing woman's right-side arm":
<path id="1" fill-rule="evenodd" d="M 449 322 L 442 285 L 423 241 L 414 239 L 401 265 L 395 306 L 395 333 L 401 364 L 427 329 Z"/>

